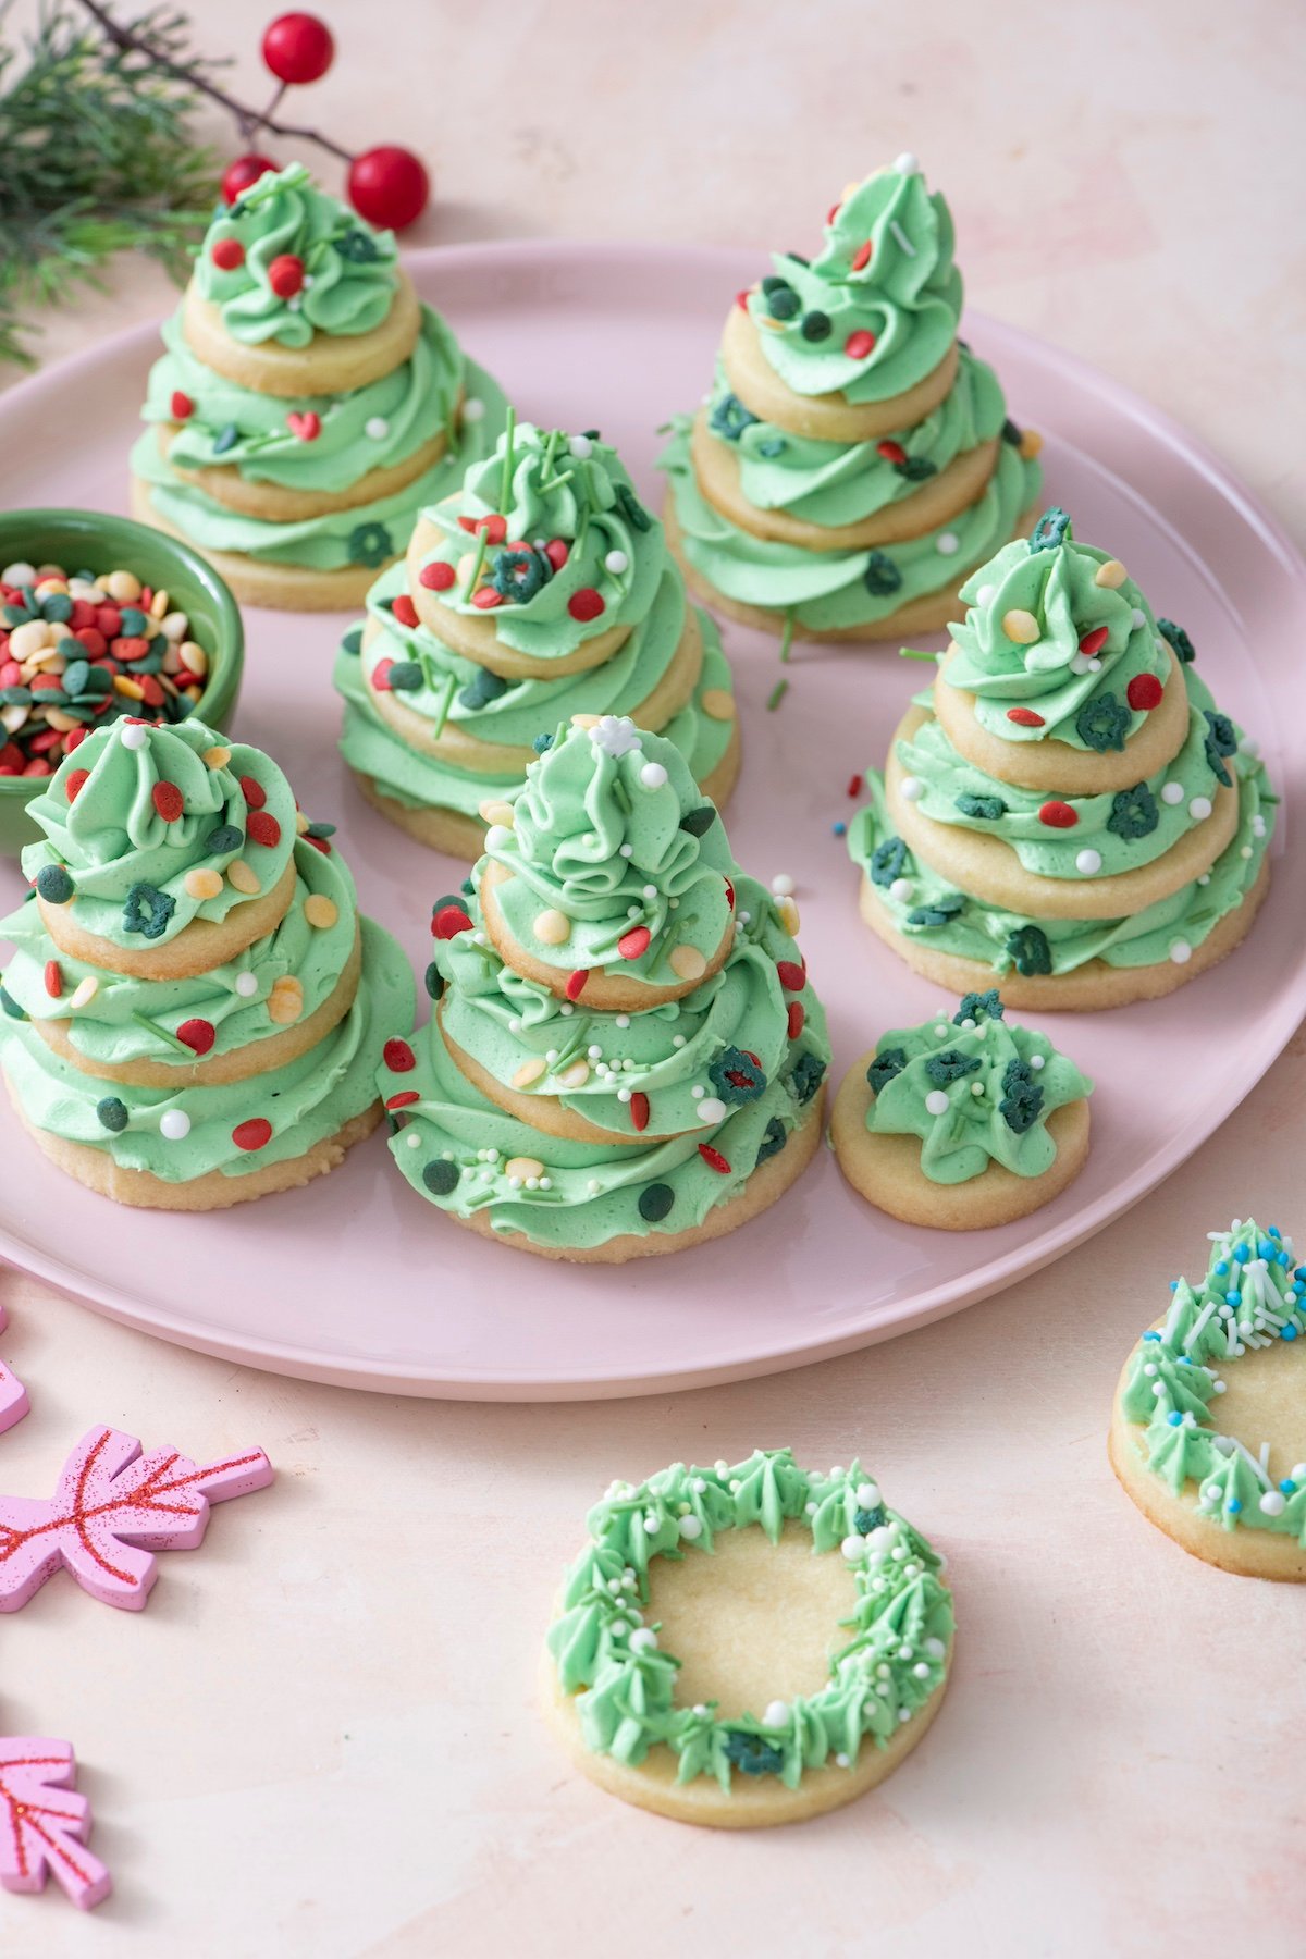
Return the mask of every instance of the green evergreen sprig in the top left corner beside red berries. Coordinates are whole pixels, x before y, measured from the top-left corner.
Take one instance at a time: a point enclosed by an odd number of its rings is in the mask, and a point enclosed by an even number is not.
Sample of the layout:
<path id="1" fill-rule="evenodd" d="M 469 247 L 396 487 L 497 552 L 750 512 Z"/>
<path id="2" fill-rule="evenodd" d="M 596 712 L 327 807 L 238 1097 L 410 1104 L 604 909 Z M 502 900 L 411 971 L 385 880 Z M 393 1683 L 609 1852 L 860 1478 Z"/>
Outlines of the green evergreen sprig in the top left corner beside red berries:
<path id="1" fill-rule="evenodd" d="M 123 251 L 180 282 L 208 223 L 219 163 L 196 143 L 190 24 L 153 8 L 106 39 L 63 0 L 43 8 L 20 49 L 0 6 L 0 362 L 31 366 L 33 308 L 100 286 Z"/>

